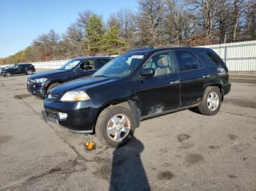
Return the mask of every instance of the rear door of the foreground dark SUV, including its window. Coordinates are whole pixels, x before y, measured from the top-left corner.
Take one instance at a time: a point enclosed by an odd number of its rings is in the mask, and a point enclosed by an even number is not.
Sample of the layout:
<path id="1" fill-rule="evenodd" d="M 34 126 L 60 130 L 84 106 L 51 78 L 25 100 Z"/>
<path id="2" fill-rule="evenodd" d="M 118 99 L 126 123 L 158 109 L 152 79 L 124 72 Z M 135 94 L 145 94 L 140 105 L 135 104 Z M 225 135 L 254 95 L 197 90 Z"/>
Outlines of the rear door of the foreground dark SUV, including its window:
<path id="1" fill-rule="evenodd" d="M 190 50 L 175 50 L 181 80 L 181 107 L 197 104 L 204 84 L 211 79 L 206 66 Z"/>

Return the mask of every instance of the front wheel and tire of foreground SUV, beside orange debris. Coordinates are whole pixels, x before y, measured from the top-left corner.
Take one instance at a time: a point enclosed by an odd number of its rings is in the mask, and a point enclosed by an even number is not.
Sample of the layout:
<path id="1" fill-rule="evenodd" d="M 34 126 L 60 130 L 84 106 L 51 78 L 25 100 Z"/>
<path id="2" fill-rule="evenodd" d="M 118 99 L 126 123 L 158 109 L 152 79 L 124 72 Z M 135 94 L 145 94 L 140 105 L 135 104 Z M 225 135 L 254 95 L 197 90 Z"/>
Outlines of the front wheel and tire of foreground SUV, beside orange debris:
<path id="1" fill-rule="evenodd" d="M 127 120 L 125 117 L 127 117 Z M 113 133 L 111 134 L 111 129 L 115 124 L 113 123 L 113 121 L 115 121 L 113 119 L 116 119 L 121 125 L 118 125 L 119 129 L 117 130 L 117 128 L 115 128 L 115 130 L 113 130 Z M 124 122 L 121 122 L 121 120 L 124 120 Z M 97 123 L 95 125 L 95 134 L 99 141 L 102 144 L 105 144 L 107 147 L 120 147 L 121 145 L 126 144 L 130 139 L 132 139 L 134 133 L 135 118 L 133 117 L 131 110 L 127 107 L 109 106 L 99 114 Z M 118 134 L 120 135 L 120 139 L 118 139 Z M 116 140 L 114 140 L 115 137 Z"/>

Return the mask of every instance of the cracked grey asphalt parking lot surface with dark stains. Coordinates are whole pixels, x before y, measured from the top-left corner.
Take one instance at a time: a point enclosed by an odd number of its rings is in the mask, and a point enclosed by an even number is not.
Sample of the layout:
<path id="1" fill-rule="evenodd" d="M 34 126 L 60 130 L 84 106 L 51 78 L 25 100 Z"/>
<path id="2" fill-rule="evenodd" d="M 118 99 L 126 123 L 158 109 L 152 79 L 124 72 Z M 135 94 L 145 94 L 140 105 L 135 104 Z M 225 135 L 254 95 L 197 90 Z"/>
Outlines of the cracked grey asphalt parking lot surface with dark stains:
<path id="1" fill-rule="evenodd" d="M 0 190 L 255 190 L 256 85 L 233 82 L 212 117 L 143 120 L 118 149 L 41 118 L 27 76 L 0 77 Z M 97 148 L 86 151 L 87 141 Z"/>

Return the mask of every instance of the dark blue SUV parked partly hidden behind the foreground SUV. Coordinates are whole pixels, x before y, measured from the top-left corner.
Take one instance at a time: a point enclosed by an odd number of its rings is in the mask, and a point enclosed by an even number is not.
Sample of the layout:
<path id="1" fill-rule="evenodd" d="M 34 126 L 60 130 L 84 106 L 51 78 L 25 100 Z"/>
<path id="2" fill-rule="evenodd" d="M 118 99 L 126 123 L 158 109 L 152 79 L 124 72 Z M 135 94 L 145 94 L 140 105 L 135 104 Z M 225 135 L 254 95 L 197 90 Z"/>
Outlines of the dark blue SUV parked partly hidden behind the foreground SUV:
<path id="1" fill-rule="evenodd" d="M 43 71 L 31 75 L 31 77 L 27 79 L 27 90 L 31 94 L 45 98 L 45 95 L 47 95 L 53 87 L 72 79 L 94 74 L 95 71 L 110 60 L 111 57 L 108 56 L 72 59 L 59 69 Z"/>

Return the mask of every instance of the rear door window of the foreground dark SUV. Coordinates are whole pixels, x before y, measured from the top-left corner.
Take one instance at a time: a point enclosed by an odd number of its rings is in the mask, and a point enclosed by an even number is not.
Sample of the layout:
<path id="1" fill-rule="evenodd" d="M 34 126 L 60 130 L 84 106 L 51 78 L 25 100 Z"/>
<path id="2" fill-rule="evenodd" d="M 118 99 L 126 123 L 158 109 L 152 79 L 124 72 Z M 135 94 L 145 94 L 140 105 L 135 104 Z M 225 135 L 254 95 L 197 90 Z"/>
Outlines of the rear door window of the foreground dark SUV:
<path id="1" fill-rule="evenodd" d="M 197 57 L 188 50 L 176 50 L 176 58 L 180 71 L 199 69 Z"/>

